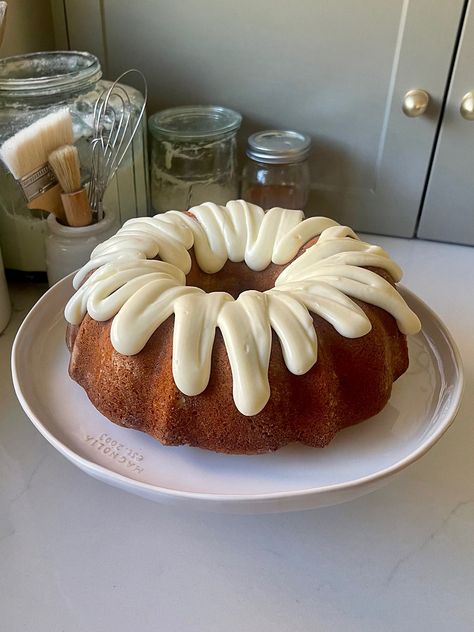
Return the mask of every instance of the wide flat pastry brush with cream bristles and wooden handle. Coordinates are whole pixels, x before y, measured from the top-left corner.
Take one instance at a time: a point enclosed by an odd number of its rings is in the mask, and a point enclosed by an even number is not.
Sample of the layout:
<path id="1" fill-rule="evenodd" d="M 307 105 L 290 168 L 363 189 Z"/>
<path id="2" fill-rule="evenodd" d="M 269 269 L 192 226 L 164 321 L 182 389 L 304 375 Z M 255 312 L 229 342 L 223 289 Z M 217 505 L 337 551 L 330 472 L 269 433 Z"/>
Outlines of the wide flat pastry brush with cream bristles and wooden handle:
<path id="1" fill-rule="evenodd" d="M 72 142 L 71 115 L 63 108 L 20 130 L 0 147 L 0 158 L 18 180 L 28 208 L 53 213 L 63 222 L 66 216 L 61 189 L 48 164 L 48 156 Z"/>

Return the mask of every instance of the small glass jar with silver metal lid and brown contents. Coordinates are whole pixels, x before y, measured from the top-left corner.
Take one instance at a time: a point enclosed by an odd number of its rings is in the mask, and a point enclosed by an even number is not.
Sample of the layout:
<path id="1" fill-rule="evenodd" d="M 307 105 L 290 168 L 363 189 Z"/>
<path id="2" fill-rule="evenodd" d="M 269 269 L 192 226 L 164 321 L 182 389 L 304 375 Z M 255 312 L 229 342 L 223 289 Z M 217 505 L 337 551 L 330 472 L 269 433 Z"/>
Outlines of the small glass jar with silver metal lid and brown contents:
<path id="1" fill-rule="evenodd" d="M 289 130 L 266 130 L 248 139 L 241 197 L 264 210 L 304 209 L 309 195 L 311 139 Z"/>

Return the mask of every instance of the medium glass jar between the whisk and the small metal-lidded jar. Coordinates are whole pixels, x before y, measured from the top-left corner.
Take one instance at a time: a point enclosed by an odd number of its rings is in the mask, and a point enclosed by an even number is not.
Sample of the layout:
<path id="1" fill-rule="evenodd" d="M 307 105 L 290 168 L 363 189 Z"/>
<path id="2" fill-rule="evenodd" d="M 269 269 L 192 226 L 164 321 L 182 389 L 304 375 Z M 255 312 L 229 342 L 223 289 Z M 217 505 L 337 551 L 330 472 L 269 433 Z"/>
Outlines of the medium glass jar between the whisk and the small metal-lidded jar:
<path id="1" fill-rule="evenodd" d="M 151 202 L 185 211 L 238 196 L 237 140 L 242 117 L 219 106 L 183 106 L 149 119 Z"/>

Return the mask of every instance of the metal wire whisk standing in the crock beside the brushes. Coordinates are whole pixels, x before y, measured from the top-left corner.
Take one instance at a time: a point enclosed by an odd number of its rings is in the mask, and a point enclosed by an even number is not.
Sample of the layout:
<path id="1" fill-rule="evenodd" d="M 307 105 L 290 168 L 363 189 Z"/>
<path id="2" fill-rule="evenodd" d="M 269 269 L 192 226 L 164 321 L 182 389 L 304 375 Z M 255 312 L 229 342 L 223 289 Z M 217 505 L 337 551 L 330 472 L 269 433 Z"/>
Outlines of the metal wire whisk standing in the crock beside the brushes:
<path id="1" fill-rule="evenodd" d="M 143 105 L 138 117 L 126 90 L 119 82 L 131 73 L 143 81 Z M 123 72 L 114 83 L 106 88 L 94 106 L 94 135 L 91 141 L 91 175 L 89 203 L 97 221 L 103 218 L 103 199 L 110 181 L 130 147 L 143 118 L 148 96 L 146 79 L 139 70 L 132 68 Z"/>

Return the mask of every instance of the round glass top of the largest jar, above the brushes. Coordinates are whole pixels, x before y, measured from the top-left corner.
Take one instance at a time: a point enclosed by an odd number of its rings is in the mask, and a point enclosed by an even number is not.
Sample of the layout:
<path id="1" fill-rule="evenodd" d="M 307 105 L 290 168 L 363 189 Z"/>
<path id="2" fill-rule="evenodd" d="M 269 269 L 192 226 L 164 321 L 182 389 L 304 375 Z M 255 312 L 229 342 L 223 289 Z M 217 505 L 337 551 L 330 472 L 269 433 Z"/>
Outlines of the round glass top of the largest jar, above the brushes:
<path id="1" fill-rule="evenodd" d="M 0 98 L 79 91 L 102 76 L 99 60 L 81 51 L 47 51 L 0 59 Z"/>

